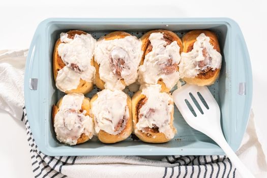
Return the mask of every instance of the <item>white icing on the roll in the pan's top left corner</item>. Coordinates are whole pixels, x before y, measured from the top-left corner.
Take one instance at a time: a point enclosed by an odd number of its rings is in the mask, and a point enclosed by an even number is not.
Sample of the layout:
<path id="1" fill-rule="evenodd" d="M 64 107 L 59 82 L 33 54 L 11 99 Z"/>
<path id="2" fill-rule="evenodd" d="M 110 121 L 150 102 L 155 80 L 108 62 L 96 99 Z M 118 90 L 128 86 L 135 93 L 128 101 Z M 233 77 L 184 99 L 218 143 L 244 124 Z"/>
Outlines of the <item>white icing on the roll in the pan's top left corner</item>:
<path id="1" fill-rule="evenodd" d="M 96 72 L 91 65 L 94 55 L 96 40 L 90 34 L 75 35 L 74 39 L 68 38 L 68 34 L 61 33 L 61 43 L 58 45 L 58 55 L 61 56 L 65 67 L 57 72 L 56 87 L 63 91 L 77 88 L 80 78 L 93 82 Z M 79 70 L 72 67 L 75 64 Z"/>

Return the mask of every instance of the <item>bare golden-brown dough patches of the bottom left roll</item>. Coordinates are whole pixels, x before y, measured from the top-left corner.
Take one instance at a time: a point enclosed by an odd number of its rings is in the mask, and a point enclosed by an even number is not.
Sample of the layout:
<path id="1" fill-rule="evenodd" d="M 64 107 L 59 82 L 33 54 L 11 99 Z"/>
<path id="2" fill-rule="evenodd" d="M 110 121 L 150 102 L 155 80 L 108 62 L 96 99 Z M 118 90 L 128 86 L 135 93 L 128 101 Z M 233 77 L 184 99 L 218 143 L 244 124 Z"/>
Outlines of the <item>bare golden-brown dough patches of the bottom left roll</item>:
<path id="1" fill-rule="evenodd" d="M 61 107 L 61 104 L 62 104 L 62 100 L 63 100 L 63 98 L 58 100 L 56 105 L 52 106 L 52 123 L 53 123 L 53 125 L 54 125 L 55 114 L 60 110 L 60 107 Z M 90 116 L 90 99 L 89 98 L 85 98 L 84 97 L 84 100 L 82 102 L 80 111 L 82 112 L 82 110 L 86 110 L 85 115 L 89 115 Z M 86 142 L 88 140 L 90 140 L 90 138 L 87 135 L 85 135 L 84 133 L 82 133 L 80 138 L 78 138 L 76 144 L 84 143 L 84 142 Z"/>

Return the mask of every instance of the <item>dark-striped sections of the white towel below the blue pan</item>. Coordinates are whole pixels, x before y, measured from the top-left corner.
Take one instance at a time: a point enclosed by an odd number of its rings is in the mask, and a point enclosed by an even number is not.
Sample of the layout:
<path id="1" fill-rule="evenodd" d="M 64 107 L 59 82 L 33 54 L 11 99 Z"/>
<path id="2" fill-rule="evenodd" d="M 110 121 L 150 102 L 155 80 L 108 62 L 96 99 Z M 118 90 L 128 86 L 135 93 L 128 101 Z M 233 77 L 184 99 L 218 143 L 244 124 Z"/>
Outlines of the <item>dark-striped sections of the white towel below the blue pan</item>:
<path id="1" fill-rule="evenodd" d="M 38 149 L 28 124 L 26 109 L 23 107 L 21 121 L 26 127 L 27 141 L 30 147 L 32 168 L 35 177 L 67 177 L 64 168 L 75 164 L 77 156 L 51 157 Z M 162 162 L 162 177 L 235 177 L 235 168 L 225 156 L 167 156 Z"/>

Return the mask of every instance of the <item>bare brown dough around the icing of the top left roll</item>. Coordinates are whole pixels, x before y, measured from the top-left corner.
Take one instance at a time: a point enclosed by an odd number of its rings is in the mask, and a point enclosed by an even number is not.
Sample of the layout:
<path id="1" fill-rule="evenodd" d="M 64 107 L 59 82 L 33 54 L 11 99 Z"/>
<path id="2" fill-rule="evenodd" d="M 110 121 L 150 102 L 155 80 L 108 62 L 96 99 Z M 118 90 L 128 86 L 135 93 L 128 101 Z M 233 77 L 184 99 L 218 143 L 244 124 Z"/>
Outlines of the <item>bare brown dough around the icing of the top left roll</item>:
<path id="1" fill-rule="evenodd" d="M 81 35 L 81 34 L 86 34 L 85 32 L 83 31 L 77 31 L 77 30 L 74 30 L 74 31 L 69 31 L 67 32 L 68 34 L 68 38 L 71 38 L 73 39 L 75 34 L 77 35 Z M 58 39 L 55 43 L 55 46 L 54 46 L 54 53 L 53 53 L 53 74 L 54 74 L 54 81 L 56 81 L 56 77 L 57 77 L 57 72 L 60 71 L 61 69 L 63 69 L 66 65 L 65 63 L 62 61 L 62 58 L 60 55 L 58 55 L 58 51 L 57 51 L 57 47 L 58 45 L 60 45 L 62 42 L 60 39 Z M 92 58 L 91 60 L 91 65 L 94 66 L 94 57 Z M 80 79 L 80 83 L 79 85 L 77 86 L 76 89 L 73 89 L 73 90 L 70 90 L 70 91 L 66 91 L 65 93 L 66 94 L 70 94 L 70 93 L 82 93 L 82 94 L 87 94 L 89 93 L 90 91 L 92 91 L 94 87 L 94 83 L 93 82 L 87 82 L 87 81 L 84 81 L 82 79 Z"/>

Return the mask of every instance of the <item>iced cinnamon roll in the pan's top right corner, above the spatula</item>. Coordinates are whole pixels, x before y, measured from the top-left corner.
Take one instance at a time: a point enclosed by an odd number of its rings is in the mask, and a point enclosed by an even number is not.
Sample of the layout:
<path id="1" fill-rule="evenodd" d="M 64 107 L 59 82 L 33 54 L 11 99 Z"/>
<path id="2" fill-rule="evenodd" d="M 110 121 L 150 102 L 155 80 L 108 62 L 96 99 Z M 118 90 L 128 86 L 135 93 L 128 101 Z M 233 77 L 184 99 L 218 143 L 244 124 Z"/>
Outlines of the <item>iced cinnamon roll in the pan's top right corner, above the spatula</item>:
<path id="1" fill-rule="evenodd" d="M 199 86 L 213 84 L 220 74 L 222 55 L 213 32 L 194 30 L 183 38 L 184 50 L 179 64 L 181 78 Z"/>

